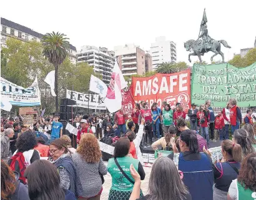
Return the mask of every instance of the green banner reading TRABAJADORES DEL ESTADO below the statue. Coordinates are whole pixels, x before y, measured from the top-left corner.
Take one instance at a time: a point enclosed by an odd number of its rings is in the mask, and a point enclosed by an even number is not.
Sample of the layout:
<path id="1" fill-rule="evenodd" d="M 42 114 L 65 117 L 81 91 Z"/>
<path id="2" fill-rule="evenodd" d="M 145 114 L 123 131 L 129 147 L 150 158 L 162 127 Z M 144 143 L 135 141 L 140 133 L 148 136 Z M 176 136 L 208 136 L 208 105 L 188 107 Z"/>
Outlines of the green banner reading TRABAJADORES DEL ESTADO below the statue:
<path id="1" fill-rule="evenodd" d="M 210 99 L 214 107 L 225 107 L 235 98 L 239 107 L 256 106 L 256 62 L 244 68 L 194 64 L 191 96 L 197 105 Z"/>

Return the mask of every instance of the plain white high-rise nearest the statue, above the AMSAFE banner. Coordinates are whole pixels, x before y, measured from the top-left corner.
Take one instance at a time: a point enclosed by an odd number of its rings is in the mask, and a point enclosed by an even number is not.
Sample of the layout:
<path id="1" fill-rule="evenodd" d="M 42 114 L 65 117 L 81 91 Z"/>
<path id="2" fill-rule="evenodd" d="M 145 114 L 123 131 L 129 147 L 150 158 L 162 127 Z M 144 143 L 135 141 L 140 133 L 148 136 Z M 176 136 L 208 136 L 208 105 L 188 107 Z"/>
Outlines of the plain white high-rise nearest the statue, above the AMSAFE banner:
<path id="1" fill-rule="evenodd" d="M 176 44 L 166 40 L 164 36 L 157 37 L 151 44 L 150 54 L 152 55 L 153 70 L 163 62 L 177 62 Z"/>

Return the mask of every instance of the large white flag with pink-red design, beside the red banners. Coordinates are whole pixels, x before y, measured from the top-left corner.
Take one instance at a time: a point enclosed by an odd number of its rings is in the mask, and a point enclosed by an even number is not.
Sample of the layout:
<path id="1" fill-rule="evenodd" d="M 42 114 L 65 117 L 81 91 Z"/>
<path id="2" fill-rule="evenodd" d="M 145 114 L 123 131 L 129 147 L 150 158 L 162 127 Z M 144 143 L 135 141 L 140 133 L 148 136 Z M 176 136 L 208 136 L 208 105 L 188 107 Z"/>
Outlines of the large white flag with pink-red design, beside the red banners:
<path id="1" fill-rule="evenodd" d="M 122 108 L 121 90 L 126 87 L 126 80 L 124 80 L 124 76 L 116 62 L 112 71 L 109 87 L 107 87 L 107 95 L 105 98 L 105 105 L 109 112 L 114 113 Z"/>

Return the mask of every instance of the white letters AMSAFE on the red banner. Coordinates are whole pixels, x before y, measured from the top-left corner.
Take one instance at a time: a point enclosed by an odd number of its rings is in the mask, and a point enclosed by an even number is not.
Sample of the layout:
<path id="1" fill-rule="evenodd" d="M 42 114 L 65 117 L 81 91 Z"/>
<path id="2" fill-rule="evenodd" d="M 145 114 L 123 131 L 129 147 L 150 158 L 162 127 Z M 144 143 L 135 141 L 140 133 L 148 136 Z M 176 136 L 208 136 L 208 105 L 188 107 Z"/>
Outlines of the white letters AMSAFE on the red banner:
<path id="1" fill-rule="evenodd" d="M 177 79 L 179 79 L 179 92 L 187 91 L 187 77 L 188 73 L 178 75 L 170 75 L 170 81 L 167 83 L 167 77 L 162 77 L 159 84 L 159 79 L 155 77 L 153 80 L 143 80 L 142 85 L 140 85 L 140 80 L 135 83 L 134 96 L 144 96 L 144 95 L 156 95 L 157 93 L 172 93 L 174 92 L 174 87 L 177 87 Z M 159 88 L 160 85 L 160 88 Z"/>

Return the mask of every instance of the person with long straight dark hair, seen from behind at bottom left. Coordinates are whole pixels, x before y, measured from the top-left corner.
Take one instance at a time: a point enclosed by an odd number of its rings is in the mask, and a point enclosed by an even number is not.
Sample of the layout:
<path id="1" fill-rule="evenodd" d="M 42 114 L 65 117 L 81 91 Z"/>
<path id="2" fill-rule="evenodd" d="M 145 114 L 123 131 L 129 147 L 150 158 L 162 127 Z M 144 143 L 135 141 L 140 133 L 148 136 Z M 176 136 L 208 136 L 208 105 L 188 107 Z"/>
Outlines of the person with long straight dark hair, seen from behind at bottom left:
<path id="1" fill-rule="evenodd" d="M 61 188 L 57 168 L 49 161 L 38 160 L 32 163 L 24 176 L 27 178 L 30 200 L 76 200 L 71 191 Z"/>

